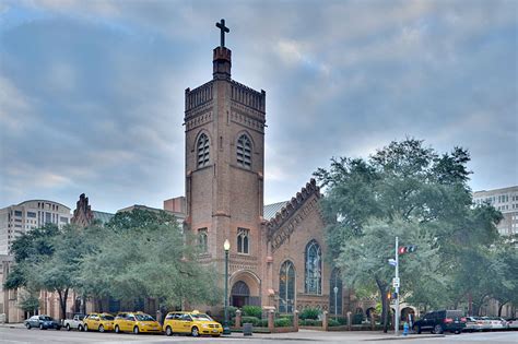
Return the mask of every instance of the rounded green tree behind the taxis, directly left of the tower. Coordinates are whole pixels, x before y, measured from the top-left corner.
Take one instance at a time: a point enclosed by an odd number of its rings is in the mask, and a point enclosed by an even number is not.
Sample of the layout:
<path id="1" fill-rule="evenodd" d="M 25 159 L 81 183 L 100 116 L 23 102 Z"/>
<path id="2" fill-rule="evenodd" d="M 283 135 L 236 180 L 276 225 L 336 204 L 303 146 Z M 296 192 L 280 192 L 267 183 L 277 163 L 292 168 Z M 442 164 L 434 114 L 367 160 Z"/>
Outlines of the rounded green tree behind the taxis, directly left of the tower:
<path id="1" fill-rule="evenodd" d="M 216 274 L 198 263 L 176 218 L 165 212 L 121 212 L 106 225 L 103 240 L 82 259 L 81 285 L 91 296 L 133 300 L 142 295 L 165 306 L 213 304 Z"/>

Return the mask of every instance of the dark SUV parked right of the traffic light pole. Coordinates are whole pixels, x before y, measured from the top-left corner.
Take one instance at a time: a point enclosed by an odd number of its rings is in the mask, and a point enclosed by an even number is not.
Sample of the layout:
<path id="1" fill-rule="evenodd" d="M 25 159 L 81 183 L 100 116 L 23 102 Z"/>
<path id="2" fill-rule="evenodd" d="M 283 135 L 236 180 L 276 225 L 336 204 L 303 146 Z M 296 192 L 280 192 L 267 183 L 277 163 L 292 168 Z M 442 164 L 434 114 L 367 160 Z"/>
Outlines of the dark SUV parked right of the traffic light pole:
<path id="1" fill-rule="evenodd" d="M 466 328 L 466 318 L 461 310 L 437 310 L 424 315 L 424 317 L 414 322 L 412 329 L 421 333 L 431 331 L 440 334 L 443 332 L 460 333 Z"/>

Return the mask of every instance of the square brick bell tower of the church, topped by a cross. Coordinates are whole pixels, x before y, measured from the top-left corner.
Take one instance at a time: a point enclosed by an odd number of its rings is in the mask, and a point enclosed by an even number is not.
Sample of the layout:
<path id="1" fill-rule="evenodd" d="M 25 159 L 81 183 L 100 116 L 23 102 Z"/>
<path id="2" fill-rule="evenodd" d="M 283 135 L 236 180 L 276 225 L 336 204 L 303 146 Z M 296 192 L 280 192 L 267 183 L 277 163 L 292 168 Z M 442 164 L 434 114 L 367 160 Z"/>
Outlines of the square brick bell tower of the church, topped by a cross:
<path id="1" fill-rule="evenodd" d="M 246 283 L 250 300 L 261 294 L 266 92 L 232 79 L 229 29 L 224 20 L 216 27 L 221 43 L 213 50 L 213 78 L 185 92 L 186 225 L 198 235 L 201 259 L 217 262 L 219 271 L 228 239 L 229 275 L 235 276 L 229 286 Z M 242 270 L 255 282 L 240 278 Z"/>

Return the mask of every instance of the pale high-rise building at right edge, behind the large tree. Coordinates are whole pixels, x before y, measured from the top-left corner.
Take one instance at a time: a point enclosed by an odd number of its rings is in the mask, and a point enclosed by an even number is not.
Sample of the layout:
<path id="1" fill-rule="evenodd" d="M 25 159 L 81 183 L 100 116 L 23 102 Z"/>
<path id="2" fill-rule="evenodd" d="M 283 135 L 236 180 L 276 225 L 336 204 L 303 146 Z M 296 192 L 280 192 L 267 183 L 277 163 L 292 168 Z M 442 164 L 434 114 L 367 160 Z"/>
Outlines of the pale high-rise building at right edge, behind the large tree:
<path id="1" fill-rule="evenodd" d="M 497 225 L 501 235 L 518 234 L 518 186 L 476 191 L 473 193 L 473 202 L 491 204 L 502 212 L 504 220 Z"/>

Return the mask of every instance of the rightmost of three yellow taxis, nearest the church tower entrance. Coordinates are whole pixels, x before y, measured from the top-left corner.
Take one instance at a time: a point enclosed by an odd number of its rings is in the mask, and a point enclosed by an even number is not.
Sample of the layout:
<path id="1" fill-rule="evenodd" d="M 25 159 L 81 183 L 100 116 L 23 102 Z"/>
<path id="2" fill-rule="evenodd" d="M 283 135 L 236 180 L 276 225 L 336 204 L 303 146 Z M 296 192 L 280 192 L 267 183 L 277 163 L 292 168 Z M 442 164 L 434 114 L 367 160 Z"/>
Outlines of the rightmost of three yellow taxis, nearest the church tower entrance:
<path id="1" fill-rule="evenodd" d="M 191 312 L 173 311 L 164 320 L 162 328 L 167 335 L 174 333 L 190 333 L 192 336 L 208 334 L 220 336 L 223 333 L 221 323 L 212 320 L 211 317 L 195 310 Z"/>

